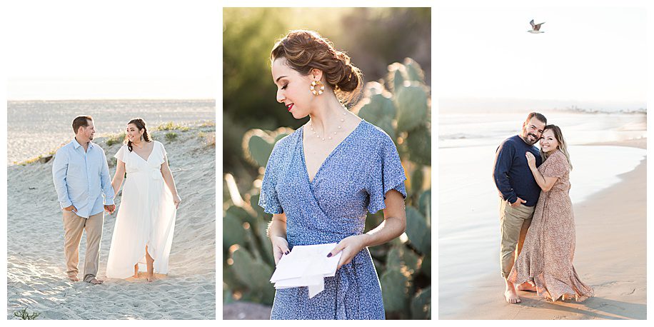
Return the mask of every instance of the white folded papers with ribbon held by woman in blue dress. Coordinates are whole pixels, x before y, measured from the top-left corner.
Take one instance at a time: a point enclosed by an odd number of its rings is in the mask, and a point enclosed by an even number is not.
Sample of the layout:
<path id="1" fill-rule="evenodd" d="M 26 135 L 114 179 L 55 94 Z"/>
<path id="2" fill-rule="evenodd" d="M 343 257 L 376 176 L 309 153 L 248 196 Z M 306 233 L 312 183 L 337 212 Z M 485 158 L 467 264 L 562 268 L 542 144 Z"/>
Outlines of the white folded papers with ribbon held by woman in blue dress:
<path id="1" fill-rule="evenodd" d="M 308 287 L 309 298 L 325 289 L 325 277 L 336 275 L 341 252 L 327 258 L 336 243 L 293 246 L 293 251 L 281 257 L 270 278 L 275 288 Z"/>

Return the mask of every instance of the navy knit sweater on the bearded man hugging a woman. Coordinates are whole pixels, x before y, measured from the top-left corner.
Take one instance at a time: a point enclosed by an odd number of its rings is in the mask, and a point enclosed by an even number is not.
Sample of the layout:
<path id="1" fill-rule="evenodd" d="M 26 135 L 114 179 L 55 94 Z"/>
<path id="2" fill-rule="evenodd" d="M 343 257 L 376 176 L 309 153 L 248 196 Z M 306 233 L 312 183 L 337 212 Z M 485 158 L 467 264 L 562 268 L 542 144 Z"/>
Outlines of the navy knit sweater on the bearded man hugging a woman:
<path id="1" fill-rule="evenodd" d="M 540 186 L 533 178 L 525 153 L 530 151 L 536 157 L 536 166 L 540 166 L 540 151 L 530 146 L 519 136 L 505 139 L 495 152 L 493 179 L 500 196 L 514 203 L 518 197 L 526 200 L 525 206 L 535 206 L 540 196 Z"/>

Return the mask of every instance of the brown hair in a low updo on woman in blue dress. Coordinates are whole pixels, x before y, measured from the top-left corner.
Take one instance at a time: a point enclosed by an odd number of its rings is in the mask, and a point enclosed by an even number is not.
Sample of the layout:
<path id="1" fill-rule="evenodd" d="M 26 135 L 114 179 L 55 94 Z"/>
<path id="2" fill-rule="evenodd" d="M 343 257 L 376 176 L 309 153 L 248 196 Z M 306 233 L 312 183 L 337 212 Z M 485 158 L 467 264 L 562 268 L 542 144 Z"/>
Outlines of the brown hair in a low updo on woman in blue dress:
<path id="1" fill-rule="evenodd" d="M 288 66 L 306 76 L 311 69 L 325 74 L 327 85 L 344 103 L 356 101 L 363 89 L 363 74 L 351 64 L 345 51 L 334 49 L 333 43 L 316 31 L 298 29 L 279 39 L 271 51 L 271 62 L 285 58 Z"/>

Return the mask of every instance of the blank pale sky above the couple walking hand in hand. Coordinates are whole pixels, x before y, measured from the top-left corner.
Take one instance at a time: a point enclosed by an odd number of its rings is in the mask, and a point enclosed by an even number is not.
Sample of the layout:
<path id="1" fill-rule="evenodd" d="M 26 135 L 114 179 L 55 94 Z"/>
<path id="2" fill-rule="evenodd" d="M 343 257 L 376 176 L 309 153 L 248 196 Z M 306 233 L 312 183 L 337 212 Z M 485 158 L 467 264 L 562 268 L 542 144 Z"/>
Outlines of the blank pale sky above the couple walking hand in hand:
<path id="1" fill-rule="evenodd" d="M 12 1 L 4 8 L 9 100 L 216 98 L 217 1 Z"/>

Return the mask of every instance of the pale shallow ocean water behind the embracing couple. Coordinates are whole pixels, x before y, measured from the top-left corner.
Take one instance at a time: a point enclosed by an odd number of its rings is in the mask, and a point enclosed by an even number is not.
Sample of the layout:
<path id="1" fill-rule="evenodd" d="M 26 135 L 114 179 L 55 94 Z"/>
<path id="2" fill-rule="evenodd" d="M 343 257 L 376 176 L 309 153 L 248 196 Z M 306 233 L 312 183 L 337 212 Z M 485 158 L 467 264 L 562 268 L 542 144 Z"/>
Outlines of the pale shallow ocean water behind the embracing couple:
<path id="1" fill-rule="evenodd" d="M 632 171 L 646 157 L 645 149 L 587 145 L 646 137 L 645 114 L 546 116 L 550 124 L 561 127 L 570 144 L 573 203 L 618 183 L 618 175 Z M 525 116 L 441 114 L 439 119 L 438 297 L 439 316 L 446 318 L 467 308 L 465 298 L 473 296 L 476 281 L 489 273 L 500 276 L 493 161 L 498 144 L 518 134 Z"/>

